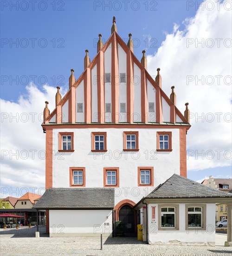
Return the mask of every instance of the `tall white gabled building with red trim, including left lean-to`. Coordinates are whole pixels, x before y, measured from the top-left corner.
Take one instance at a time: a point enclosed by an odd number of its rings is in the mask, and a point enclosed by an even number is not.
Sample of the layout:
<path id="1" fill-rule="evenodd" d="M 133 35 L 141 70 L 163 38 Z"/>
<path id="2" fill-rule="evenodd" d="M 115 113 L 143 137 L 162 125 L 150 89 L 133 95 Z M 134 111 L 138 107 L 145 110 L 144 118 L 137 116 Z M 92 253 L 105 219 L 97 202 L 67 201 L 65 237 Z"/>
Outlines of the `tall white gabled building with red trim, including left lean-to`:
<path id="1" fill-rule="evenodd" d="M 46 209 L 50 236 L 112 236 L 117 221 L 123 222 L 125 236 L 136 236 L 146 209 L 134 206 L 170 176 L 187 177 L 188 103 L 180 111 L 174 86 L 167 96 L 161 69 L 153 79 L 145 51 L 141 57 L 134 54 L 132 34 L 127 44 L 117 34 L 113 17 L 111 35 L 103 45 L 99 34 L 92 61 L 85 50 L 77 80 L 71 69 L 63 98 L 57 87 L 51 113 L 45 101 L 47 192 L 34 208 Z M 105 196 L 114 193 L 104 209 L 104 200 L 96 197 L 99 189 Z M 62 234 L 54 234 L 52 227 L 59 224 Z"/>

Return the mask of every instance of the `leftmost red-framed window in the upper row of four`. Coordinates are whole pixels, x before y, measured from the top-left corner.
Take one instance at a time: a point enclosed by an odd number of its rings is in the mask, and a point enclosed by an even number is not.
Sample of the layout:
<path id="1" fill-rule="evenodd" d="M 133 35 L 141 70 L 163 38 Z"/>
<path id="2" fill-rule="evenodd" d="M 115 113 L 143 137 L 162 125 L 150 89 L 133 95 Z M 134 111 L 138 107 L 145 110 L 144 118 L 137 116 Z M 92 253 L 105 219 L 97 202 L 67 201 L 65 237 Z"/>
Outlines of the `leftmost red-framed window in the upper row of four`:
<path id="1" fill-rule="evenodd" d="M 71 138 L 70 138 L 71 137 Z M 74 133 L 59 133 L 59 152 L 74 152 Z"/>

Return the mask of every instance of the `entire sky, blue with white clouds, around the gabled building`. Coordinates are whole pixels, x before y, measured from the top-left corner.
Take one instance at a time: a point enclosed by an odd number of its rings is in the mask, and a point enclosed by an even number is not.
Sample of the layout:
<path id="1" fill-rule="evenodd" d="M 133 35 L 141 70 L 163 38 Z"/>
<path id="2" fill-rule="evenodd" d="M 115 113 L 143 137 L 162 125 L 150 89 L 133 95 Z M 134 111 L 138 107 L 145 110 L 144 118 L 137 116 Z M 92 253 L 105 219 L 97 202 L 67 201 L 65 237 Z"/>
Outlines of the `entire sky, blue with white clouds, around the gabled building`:
<path id="1" fill-rule="evenodd" d="M 102 34 L 105 42 L 111 34 L 112 18 L 116 16 L 118 34 L 127 41 L 132 33 L 134 53 L 139 60 L 146 49 L 148 72 L 155 75 L 156 68 L 161 67 L 162 89 L 167 95 L 175 85 L 180 111 L 184 112 L 184 103 L 188 101 L 194 117 L 205 115 L 203 121 L 191 120 L 187 149 L 193 150 L 194 155 L 187 160 L 187 177 L 196 181 L 209 175 L 231 177 L 232 157 L 228 154 L 232 152 L 232 130 L 231 121 L 225 121 L 227 113 L 231 115 L 231 84 L 221 81 L 220 85 L 201 85 L 186 81 L 188 75 L 196 79 L 197 75 L 231 76 L 231 47 L 223 43 L 212 48 L 186 46 L 189 38 L 214 42 L 215 38 L 221 38 L 223 42 L 232 37 L 231 14 L 224 2 L 215 4 L 213 10 L 209 10 L 207 0 L 203 2 L 204 8 L 199 8 L 201 2 L 129 1 L 126 9 L 125 1 L 45 1 L 46 6 L 44 1 L 37 1 L 32 10 L 32 4 L 26 5 L 26 1 L 1 1 L 1 112 L 39 115 L 45 100 L 49 100 L 52 111 L 56 86 L 61 87 L 63 96 L 70 69 L 74 68 L 76 79 L 82 74 L 85 49 L 92 60 L 97 53 L 98 34 Z M 213 113 L 213 122 L 206 120 L 208 113 Z M 222 113 L 219 121 L 217 113 Z M 45 161 L 37 153 L 45 149 L 40 124 L 38 118 L 36 121 L 29 118 L 26 123 L 20 118 L 1 120 L 1 149 L 9 152 L 1 161 L 2 187 L 44 186 Z M 36 156 L 33 159 L 30 155 L 27 161 L 20 157 L 17 160 L 11 157 L 11 150 L 12 153 L 18 150 L 19 155 L 23 150 L 36 150 Z M 202 150 L 204 159 L 201 156 L 196 159 L 195 155 Z M 216 156 L 218 150 L 222 150 L 220 157 Z M 213 159 L 207 157 L 209 151 L 213 151 Z M 19 172 L 15 173 L 15 169 Z"/>

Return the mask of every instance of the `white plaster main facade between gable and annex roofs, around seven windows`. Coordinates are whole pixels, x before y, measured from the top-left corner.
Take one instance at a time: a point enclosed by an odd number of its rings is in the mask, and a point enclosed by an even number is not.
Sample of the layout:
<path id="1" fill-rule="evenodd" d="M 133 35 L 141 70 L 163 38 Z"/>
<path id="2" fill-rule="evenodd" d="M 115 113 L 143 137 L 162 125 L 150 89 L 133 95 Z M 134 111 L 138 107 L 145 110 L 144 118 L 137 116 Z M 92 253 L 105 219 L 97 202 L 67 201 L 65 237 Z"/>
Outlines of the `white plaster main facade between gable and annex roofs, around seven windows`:
<path id="1" fill-rule="evenodd" d="M 123 151 L 123 131 L 139 132 L 139 151 Z M 156 152 L 156 132 L 172 132 L 172 152 Z M 74 152 L 58 152 L 58 132 L 74 132 Z M 107 132 L 107 152 L 91 152 L 91 132 Z M 70 187 L 70 167 L 85 167 L 86 188 L 103 187 L 103 168 L 119 168 L 115 205 L 138 202 L 174 173 L 180 174 L 179 129 L 78 128 L 53 129 L 52 187 Z M 137 168 L 154 167 L 154 187 L 138 187 Z"/>

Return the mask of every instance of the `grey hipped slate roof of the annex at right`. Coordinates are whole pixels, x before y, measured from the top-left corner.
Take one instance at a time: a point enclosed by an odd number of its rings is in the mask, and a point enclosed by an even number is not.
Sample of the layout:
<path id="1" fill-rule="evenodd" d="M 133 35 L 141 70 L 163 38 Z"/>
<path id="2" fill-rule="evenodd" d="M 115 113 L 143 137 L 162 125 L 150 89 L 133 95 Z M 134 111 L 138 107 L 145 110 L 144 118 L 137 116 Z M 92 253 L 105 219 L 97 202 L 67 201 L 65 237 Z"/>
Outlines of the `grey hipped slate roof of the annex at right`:
<path id="1" fill-rule="evenodd" d="M 231 193 L 210 188 L 180 175 L 172 175 L 145 198 L 215 198 L 232 197 Z"/>

